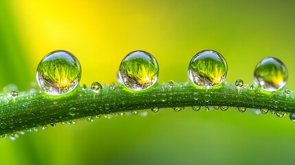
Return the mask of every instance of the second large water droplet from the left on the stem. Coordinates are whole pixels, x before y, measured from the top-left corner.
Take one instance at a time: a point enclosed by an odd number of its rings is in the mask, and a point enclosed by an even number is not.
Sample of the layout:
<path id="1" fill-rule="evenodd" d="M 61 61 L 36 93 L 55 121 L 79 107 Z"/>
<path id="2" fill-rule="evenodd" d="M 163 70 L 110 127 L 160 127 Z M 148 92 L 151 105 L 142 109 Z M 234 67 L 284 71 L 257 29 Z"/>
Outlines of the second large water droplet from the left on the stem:
<path id="1" fill-rule="evenodd" d="M 124 57 L 119 68 L 120 81 L 129 89 L 148 89 L 157 82 L 159 66 L 155 58 L 141 50 Z"/>

